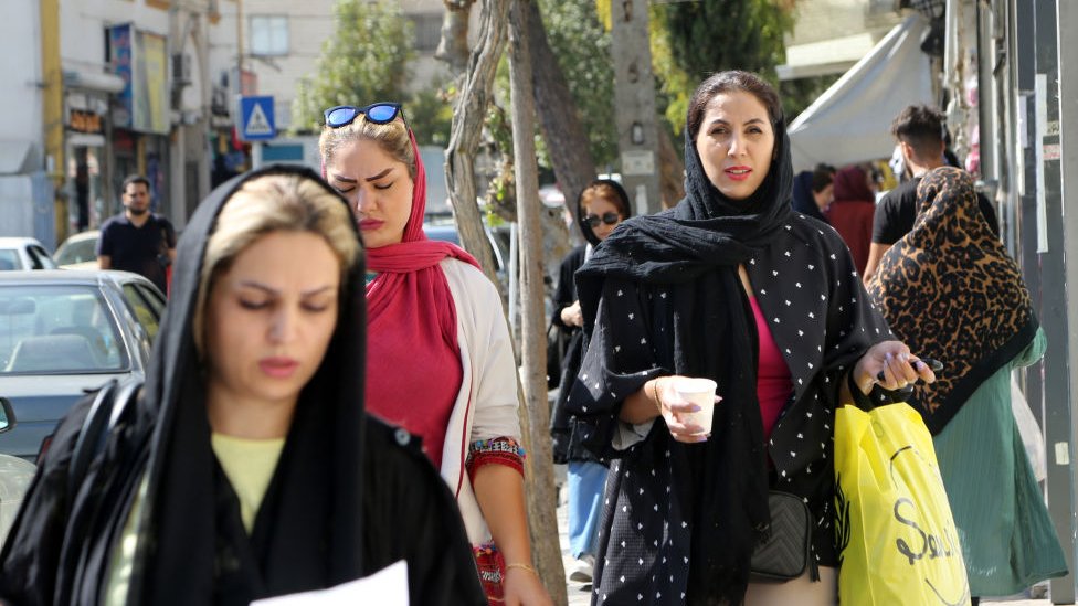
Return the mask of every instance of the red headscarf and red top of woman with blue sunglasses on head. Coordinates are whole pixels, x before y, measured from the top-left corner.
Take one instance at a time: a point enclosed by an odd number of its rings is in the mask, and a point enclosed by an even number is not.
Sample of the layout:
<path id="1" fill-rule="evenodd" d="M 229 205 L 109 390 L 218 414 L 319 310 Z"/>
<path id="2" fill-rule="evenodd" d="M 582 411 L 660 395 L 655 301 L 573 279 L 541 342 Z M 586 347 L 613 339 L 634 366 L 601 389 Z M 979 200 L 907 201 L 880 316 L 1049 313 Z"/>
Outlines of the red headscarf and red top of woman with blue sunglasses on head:
<path id="1" fill-rule="evenodd" d="M 453 257 L 479 264 L 459 246 L 423 233 L 426 170 L 411 129 L 409 138 L 415 180 L 404 237 L 367 249 L 367 267 L 378 272 L 367 286 L 367 410 L 422 436 L 440 466 L 463 371 L 456 306 L 438 263 Z"/>

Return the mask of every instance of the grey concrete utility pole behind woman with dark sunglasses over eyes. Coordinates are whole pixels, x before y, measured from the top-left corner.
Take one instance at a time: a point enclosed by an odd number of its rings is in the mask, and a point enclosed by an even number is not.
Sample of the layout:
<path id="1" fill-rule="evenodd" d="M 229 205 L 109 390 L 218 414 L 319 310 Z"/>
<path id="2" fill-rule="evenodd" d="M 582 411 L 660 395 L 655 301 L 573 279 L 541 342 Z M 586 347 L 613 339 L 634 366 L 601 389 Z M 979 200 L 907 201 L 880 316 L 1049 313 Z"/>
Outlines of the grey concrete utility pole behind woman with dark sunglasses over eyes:
<path id="1" fill-rule="evenodd" d="M 611 2 L 614 106 L 622 185 L 638 214 L 660 210 L 658 115 L 647 29 L 647 0 Z"/>

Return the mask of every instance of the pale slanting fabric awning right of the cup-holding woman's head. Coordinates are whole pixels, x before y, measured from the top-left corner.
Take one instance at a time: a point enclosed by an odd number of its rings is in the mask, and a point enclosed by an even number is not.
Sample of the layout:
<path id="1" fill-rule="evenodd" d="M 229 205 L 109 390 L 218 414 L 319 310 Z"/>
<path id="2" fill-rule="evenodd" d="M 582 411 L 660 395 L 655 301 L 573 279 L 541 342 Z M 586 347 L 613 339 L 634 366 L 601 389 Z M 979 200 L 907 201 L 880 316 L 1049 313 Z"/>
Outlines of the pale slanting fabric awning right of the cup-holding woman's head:
<path id="1" fill-rule="evenodd" d="M 929 56 L 920 50 L 928 22 L 907 17 L 791 123 L 794 170 L 889 158 L 891 120 L 903 107 L 932 103 Z"/>

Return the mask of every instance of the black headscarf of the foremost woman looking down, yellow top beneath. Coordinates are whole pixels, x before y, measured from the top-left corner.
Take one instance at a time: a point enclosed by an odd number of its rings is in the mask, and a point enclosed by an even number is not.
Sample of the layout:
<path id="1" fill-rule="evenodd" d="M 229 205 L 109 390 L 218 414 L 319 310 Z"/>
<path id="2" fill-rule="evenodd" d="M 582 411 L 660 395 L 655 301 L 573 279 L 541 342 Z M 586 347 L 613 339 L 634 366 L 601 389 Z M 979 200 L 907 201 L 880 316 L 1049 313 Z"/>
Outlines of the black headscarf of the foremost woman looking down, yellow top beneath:
<path id="1" fill-rule="evenodd" d="M 281 595 L 361 574 L 363 375 L 353 369 L 363 368 L 366 343 L 362 262 L 344 285 L 337 328 L 321 366 L 300 393 L 250 540 L 226 504 L 231 485 L 210 445 L 204 378 L 191 327 L 202 259 L 224 203 L 243 183 L 266 174 L 298 174 L 324 183 L 309 169 L 284 166 L 234 178 L 199 205 L 178 245 L 172 295 L 139 410 L 141 421 L 152 426 L 145 522 L 157 543 L 184 549 L 144 545 L 140 555 L 148 562 L 133 591 L 141 591 L 148 604 L 209 603 L 229 592 L 252 598 Z M 220 555 L 219 545 L 230 541 L 233 547 L 226 546 L 225 553 L 234 549 L 234 562 Z M 216 562 L 219 557 L 225 562 Z M 216 582 L 215 565 L 224 566 Z"/>

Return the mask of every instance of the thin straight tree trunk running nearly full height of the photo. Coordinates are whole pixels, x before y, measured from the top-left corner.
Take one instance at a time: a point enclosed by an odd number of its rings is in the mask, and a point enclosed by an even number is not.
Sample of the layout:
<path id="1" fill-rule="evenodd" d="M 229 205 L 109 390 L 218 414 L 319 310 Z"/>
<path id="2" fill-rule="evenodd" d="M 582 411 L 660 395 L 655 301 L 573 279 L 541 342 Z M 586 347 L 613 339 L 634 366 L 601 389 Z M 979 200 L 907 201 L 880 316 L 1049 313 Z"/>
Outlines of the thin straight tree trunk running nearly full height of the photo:
<path id="1" fill-rule="evenodd" d="M 525 439 L 528 520 L 539 578 L 558 604 L 567 603 L 566 571 L 558 542 L 557 491 L 550 451 L 550 413 L 547 404 L 547 331 L 543 312 L 541 203 L 536 161 L 535 98 L 531 95 L 531 57 L 528 52 L 529 0 L 514 0 L 509 20 L 509 88 L 512 102 L 512 150 L 516 162 L 517 219 L 520 230 L 521 386 L 526 414 Z M 527 423 L 525 423 L 527 421 Z"/>

